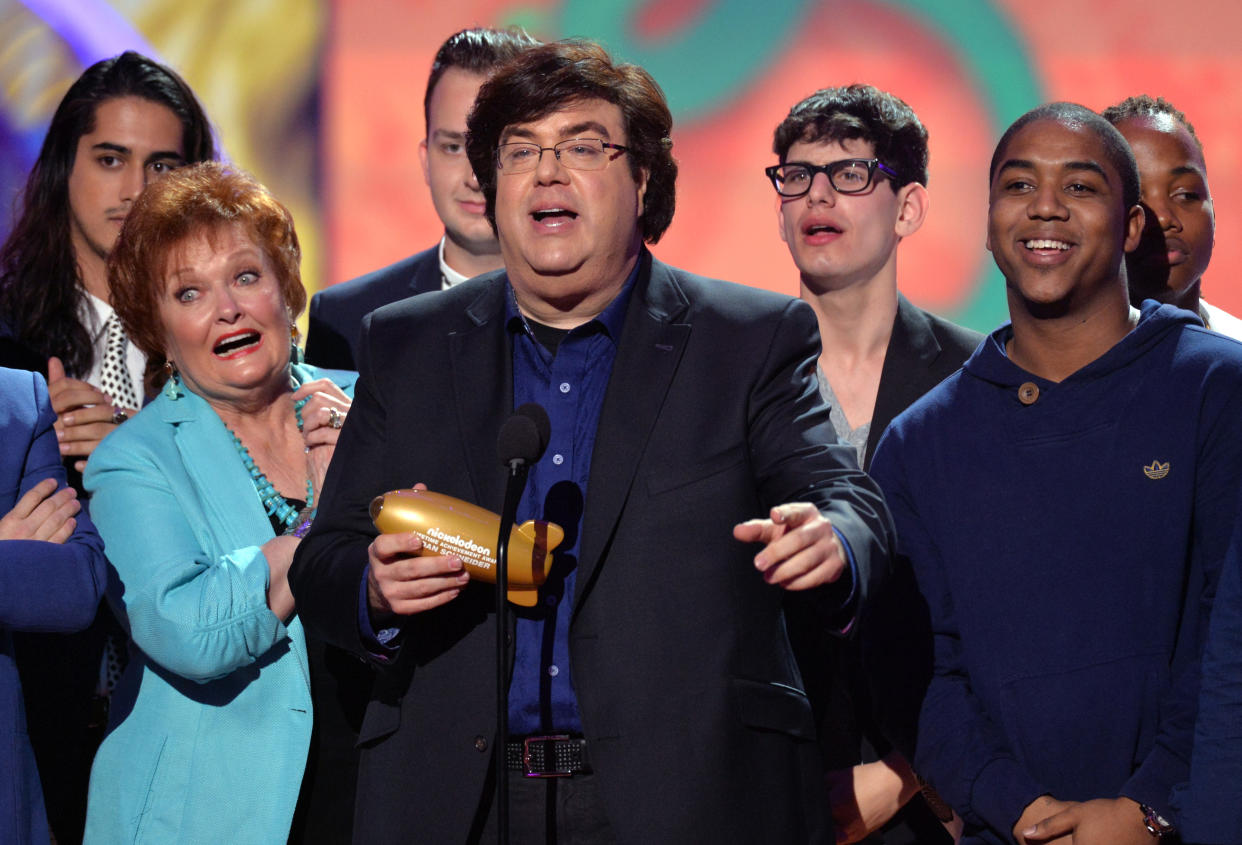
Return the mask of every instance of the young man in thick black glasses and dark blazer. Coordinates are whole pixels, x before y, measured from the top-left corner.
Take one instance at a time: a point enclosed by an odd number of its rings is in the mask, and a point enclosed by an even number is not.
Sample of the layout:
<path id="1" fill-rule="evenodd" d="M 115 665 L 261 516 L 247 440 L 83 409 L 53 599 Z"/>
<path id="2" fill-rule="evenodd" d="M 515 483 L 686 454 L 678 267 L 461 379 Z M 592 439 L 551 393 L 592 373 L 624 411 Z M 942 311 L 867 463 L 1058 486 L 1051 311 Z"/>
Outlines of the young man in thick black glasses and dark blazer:
<path id="1" fill-rule="evenodd" d="M 867 468 L 888 422 L 982 339 L 897 290 L 898 247 L 928 212 L 928 133 L 893 94 L 852 84 L 794 106 L 776 127 L 773 152 L 780 164 L 766 173 L 780 236 L 820 323 L 820 391 L 837 436 Z M 868 841 L 889 844 L 950 841 L 924 800 L 910 800 L 918 779 L 879 736 L 856 642 L 796 633 L 809 691 L 822 711 L 833 816 L 848 841 L 868 834 Z"/>

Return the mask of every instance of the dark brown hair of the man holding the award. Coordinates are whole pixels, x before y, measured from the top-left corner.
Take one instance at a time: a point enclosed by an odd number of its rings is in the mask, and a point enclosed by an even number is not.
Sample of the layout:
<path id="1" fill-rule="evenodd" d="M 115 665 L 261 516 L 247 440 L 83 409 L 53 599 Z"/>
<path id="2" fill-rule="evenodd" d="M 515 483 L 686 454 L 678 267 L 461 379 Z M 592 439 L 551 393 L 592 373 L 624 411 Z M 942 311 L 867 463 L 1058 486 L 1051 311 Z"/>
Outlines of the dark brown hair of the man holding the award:
<path id="1" fill-rule="evenodd" d="M 664 92 L 637 65 L 616 65 L 604 47 L 570 39 L 534 47 L 499 67 L 483 83 L 467 121 L 466 154 L 487 200 L 496 229 L 496 148 L 507 127 L 533 123 L 558 109 L 602 99 L 621 109 L 630 171 L 647 174 L 642 201 L 642 237 L 660 240 L 673 220 L 677 163 L 673 160 L 673 116 Z"/>

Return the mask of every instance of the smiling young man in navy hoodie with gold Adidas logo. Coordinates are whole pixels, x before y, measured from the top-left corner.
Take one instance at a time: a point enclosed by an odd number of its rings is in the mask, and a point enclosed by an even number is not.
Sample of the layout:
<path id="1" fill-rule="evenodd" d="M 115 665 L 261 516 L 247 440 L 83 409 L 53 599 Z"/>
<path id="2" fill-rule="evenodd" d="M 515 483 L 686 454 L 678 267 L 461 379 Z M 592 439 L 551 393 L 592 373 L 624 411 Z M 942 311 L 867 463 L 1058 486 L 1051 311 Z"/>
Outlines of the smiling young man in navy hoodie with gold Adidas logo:
<path id="1" fill-rule="evenodd" d="M 930 628 L 914 769 L 968 843 L 1153 843 L 1236 513 L 1242 344 L 1130 306 L 1139 178 L 1103 118 L 1027 113 L 989 183 L 1011 323 L 872 464 Z"/>

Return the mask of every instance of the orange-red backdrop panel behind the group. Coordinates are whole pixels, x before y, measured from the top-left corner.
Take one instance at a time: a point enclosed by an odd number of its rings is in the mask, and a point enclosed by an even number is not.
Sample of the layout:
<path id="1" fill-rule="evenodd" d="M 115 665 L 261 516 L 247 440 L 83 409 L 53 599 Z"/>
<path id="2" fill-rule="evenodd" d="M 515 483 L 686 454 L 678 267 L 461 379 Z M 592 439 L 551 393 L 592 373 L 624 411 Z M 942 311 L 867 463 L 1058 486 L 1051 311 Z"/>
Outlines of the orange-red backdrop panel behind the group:
<path id="1" fill-rule="evenodd" d="M 622 4 L 623 5 L 623 4 Z M 676 41 L 713 10 L 712 0 L 648 2 L 632 32 Z M 694 272 L 796 292 L 796 273 L 776 234 L 775 200 L 763 168 L 775 162 L 771 133 L 811 91 L 869 82 L 905 99 L 930 133 L 932 211 L 902 246 L 899 282 L 918 303 L 953 316 L 980 283 L 999 283 L 984 250 L 987 160 L 995 126 L 965 53 L 933 30 L 915 4 L 811 0 L 787 45 L 722 106 L 677 121 L 678 210 L 655 247 Z M 992 4 L 1030 61 L 1045 99 L 1103 108 L 1133 93 L 1160 94 L 1187 113 L 1203 142 L 1221 234 L 1205 295 L 1242 312 L 1237 225 L 1242 144 L 1242 7 L 1225 0 L 1165 4 L 1046 0 Z M 431 245 L 441 227 L 417 162 L 422 96 L 436 48 L 474 25 L 523 22 L 560 37 L 558 2 L 397 2 L 333 7 L 323 76 L 325 282 L 351 278 Z M 769 14 L 755 6 L 754 15 Z M 591 32 L 573 35 L 592 36 Z M 636 37 L 636 36 L 633 36 Z M 625 58 L 619 53 L 619 57 Z M 686 73 L 697 72 L 692 62 Z M 667 80 L 658 80 L 668 84 Z M 1037 102 L 1026 103 L 1033 107 Z M 992 273 L 989 277 L 989 273 Z M 989 313 L 976 328 L 1004 314 Z M 977 322 L 977 321 L 976 321 Z"/>

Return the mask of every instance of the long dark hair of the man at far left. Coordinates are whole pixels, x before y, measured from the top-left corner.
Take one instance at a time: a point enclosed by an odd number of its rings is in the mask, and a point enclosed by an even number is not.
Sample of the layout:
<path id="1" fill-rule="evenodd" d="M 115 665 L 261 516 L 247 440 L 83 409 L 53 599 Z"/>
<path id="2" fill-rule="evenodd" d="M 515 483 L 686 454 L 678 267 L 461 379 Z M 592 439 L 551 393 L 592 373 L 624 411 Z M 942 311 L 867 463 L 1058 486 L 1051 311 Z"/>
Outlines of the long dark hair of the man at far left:
<path id="1" fill-rule="evenodd" d="M 70 230 L 70 174 L 78 139 L 94 132 L 96 109 L 120 97 L 165 106 L 181 122 L 189 163 L 215 158 L 211 127 L 190 86 L 171 68 L 127 51 L 96 62 L 70 86 L 26 178 L 20 212 L 0 249 L 0 318 L 42 359 L 57 355 L 70 375 L 91 369 L 94 353 L 78 313 L 84 293 Z"/>

